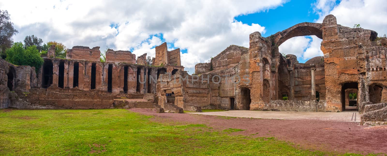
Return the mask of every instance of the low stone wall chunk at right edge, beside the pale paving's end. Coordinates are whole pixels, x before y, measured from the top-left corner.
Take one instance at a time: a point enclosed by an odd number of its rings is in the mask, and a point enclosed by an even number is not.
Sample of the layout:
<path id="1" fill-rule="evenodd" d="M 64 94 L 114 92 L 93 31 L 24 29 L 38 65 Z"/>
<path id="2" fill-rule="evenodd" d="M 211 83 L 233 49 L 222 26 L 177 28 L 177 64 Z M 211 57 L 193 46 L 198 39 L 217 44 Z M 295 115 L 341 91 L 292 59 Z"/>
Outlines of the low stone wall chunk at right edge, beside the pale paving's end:
<path id="1" fill-rule="evenodd" d="M 360 124 L 363 125 L 366 122 L 383 122 L 387 121 L 387 107 L 378 109 L 376 111 L 370 111 L 361 114 Z"/>

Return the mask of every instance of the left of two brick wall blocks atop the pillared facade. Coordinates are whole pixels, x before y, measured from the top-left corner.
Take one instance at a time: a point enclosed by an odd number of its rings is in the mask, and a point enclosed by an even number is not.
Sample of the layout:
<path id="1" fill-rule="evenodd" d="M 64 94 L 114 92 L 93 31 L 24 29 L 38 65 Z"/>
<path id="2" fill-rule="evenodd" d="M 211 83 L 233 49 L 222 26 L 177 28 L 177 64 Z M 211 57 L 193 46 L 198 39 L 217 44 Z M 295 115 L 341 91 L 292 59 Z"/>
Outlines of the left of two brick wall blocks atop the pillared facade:
<path id="1" fill-rule="evenodd" d="M 67 50 L 66 59 L 99 61 L 100 55 L 99 47 L 90 49 L 84 46 L 74 46 Z"/>

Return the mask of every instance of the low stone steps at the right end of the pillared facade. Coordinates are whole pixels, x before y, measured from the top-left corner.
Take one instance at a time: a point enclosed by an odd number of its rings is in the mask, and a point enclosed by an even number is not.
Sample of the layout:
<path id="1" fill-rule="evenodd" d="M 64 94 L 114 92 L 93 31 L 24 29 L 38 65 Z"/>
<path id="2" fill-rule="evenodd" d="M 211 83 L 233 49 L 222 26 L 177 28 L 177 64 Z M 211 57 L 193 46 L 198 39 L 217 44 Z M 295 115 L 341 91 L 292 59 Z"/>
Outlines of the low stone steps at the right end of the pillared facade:
<path id="1" fill-rule="evenodd" d="M 154 108 L 146 99 L 114 99 L 114 107 L 118 108 Z"/>

